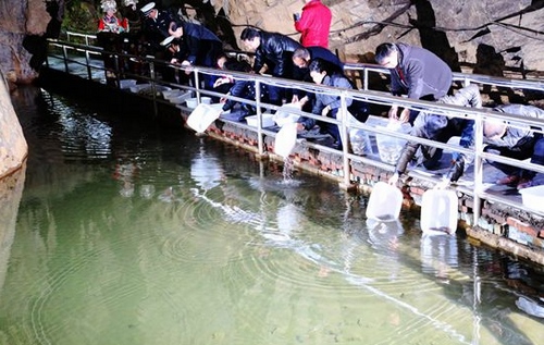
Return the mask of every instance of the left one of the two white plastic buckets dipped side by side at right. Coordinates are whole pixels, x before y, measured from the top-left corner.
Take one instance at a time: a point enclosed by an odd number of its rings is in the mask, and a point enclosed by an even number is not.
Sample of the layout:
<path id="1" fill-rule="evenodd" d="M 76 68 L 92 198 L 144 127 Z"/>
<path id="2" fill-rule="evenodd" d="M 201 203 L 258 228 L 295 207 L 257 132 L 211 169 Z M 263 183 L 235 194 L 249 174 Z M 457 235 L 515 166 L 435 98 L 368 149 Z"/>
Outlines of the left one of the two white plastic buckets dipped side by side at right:
<path id="1" fill-rule="evenodd" d="M 367 218 L 391 222 L 398 218 L 403 207 L 403 193 L 385 182 L 378 182 L 370 194 Z"/>

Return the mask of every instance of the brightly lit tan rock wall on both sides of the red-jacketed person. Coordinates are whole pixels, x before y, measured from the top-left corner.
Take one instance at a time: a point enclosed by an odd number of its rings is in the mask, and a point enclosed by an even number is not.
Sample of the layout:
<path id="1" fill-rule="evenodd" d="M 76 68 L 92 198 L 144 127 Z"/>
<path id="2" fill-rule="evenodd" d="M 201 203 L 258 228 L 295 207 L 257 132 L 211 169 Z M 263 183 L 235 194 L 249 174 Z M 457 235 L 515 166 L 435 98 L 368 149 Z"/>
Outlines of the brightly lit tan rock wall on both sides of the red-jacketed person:
<path id="1" fill-rule="evenodd" d="M 367 60 L 381 42 L 403 41 L 429 48 L 445 60 L 475 63 L 478 46 L 484 44 L 503 51 L 506 65 L 544 70 L 544 1 L 322 1 L 333 12 L 330 48 L 347 61 Z M 214 5 L 226 10 L 238 36 L 244 25 L 255 25 L 298 39 L 292 17 L 300 12 L 301 0 L 215 0 Z"/>

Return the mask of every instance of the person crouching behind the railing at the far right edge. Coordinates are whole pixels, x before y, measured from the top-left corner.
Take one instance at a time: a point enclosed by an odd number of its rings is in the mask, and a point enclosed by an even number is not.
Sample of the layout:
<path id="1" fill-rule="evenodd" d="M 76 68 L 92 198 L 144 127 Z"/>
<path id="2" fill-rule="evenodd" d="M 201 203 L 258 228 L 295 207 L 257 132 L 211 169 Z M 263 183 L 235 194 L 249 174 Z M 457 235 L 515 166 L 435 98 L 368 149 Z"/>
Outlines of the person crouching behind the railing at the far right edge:
<path id="1" fill-rule="evenodd" d="M 495 110 L 544 120 L 544 110 L 533 106 L 506 104 L 498 106 Z M 544 165 L 544 138 L 542 133 L 535 133 L 532 130 L 534 128 L 529 125 L 514 126 L 507 125 L 504 121 L 487 120 L 483 125 L 485 143 L 489 144 L 484 147 L 484 151 L 519 160 L 530 158 L 531 163 Z M 534 171 L 494 161 L 490 161 L 490 164 L 506 174 L 496 182 L 499 185 L 515 186 L 518 189 L 533 185 L 533 178 L 536 175 Z"/>

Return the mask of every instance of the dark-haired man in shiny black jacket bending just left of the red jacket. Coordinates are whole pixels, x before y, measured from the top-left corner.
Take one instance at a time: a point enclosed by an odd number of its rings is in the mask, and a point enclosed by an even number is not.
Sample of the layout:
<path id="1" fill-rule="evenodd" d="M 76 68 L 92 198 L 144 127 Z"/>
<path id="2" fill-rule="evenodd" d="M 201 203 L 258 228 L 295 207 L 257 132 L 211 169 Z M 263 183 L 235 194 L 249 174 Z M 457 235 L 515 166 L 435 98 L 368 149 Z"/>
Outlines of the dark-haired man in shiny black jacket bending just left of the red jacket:
<path id="1" fill-rule="evenodd" d="M 292 79 L 294 77 L 293 52 L 301 46 L 290 37 L 279 33 L 268 33 L 254 27 L 246 27 L 240 34 L 240 40 L 250 51 L 255 51 L 254 72 L 263 73 L 264 65 L 269 74 L 276 77 Z M 282 104 L 282 99 L 290 95 L 284 95 L 286 90 L 269 87 L 270 102 Z M 290 97 L 288 97 L 290 98 Z"/>

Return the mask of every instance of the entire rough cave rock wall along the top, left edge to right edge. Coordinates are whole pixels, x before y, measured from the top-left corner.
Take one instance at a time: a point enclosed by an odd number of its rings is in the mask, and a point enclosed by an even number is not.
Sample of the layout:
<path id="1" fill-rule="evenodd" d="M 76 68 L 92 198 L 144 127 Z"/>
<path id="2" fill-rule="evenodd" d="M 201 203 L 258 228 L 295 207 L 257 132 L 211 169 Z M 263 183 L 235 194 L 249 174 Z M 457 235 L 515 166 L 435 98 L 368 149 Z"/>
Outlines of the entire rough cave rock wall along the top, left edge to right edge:
<path id="1" fill-rule="evenodd" d="M 459 62 L 475 64 L 478 49 L 484 45 L 486 51 L 491 47 L 503 56 L 506 66 L 518 67 L 522 72 L 544 70 L 544 60 L 541 59 L 544 54 L 544 45 L 541 44 L 544 0 L 322 1 L 333 12 L 330 48 L 346 61 L 371 60 L 372 52 L 381 42 L 403 41 L 434 51 L 457 70 Z M 140 0 L 138 4 L 141 7 L 147 2 Z M 199 17 L 210 17 L 212 13 L 205 12 L 214 11 L 218 16 L 212 24 L 224 21 L 226 16 L 235 38 L 246 25 L 254 25 L 298 39 L 293 13 L 300 12 L 304 5 L 301 0 L 154 2 L 163 8 L 181 3 L 185 8 L 198 7 Z M 40 54 L 44 53 L 39 38 L 54 37 L 52 33 L 60 28 L 60 22 L 54 29 L 55 24 L 51 25 L 51 20 L 60 21 L 63 11 L 64 0 L 0 1 L 0 70 L 5 75 L 12 75 L 20 83 L 36 77 L 35 70 L 39 70 Z M 226 30 L 223 28 L 221 32 L 218 34 L 224 37 L 222 34 Z M 34 61 L 30 61 L 33 58 Z M 486 72 L 484 65 L 479 67 L 481 73 Z"/>

